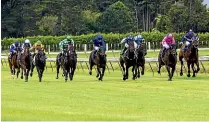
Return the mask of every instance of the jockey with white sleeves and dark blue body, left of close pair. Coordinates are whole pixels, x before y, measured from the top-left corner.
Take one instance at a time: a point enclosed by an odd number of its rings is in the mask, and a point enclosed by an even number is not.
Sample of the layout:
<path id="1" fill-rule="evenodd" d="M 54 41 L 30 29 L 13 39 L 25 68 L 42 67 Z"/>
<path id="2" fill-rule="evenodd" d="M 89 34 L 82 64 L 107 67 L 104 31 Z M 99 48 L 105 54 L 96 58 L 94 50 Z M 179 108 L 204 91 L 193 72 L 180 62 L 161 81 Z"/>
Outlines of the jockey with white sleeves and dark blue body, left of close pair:
<path id="1" fill-rule="evenodd" d="M 120 55 L 123 55 L 124 54 L 124 52 L 128 49 L 128 47 L 129 47 L 129 42 L 130 41 L 134 41 L 134 38 L 133 38 L 133 36 L 129 36 L 129 37 L 126 37 L 126 38 L 123 38 L 122 40 L 121 40 L 121 42 L 120 42 L 120 44 L 123 44 L 123 43 L 125 43 L 125 47 L 124 47 L 124 49 L 121 51 L 121 53 L 120 53 Z M 136 49 L 137 48 L 137 43 L 134 41 L 134 48 Z"/>

